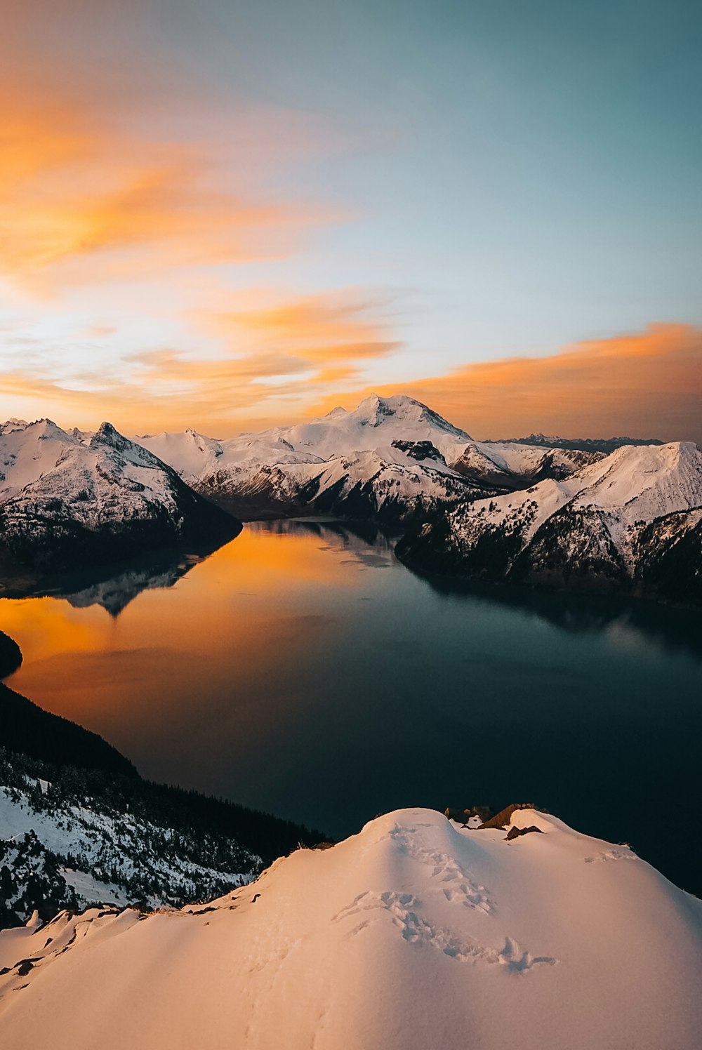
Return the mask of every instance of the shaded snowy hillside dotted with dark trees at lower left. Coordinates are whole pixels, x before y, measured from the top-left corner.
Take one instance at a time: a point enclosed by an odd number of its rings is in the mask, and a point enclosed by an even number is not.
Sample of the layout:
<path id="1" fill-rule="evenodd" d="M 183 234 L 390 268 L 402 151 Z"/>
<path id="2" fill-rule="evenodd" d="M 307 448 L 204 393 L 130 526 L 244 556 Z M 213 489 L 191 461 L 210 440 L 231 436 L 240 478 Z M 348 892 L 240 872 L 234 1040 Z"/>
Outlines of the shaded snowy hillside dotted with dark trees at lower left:
<path id="1" fill-rule="evenodd" d="M 0 750 L 0 926 L 35 908 L 48 918 L 98 902 L 183 903 L 247 882 L 263 866 L 226 835 L 149 812 L 139 778 L 46 769 Z"/>

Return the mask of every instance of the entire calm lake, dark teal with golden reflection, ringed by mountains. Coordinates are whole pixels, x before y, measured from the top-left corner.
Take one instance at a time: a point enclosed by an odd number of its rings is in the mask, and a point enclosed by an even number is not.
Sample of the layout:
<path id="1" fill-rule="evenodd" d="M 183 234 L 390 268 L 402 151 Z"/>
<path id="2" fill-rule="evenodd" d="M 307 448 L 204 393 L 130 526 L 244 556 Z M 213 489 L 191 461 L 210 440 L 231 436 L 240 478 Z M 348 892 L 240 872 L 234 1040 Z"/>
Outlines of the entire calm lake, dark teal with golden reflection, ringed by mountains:
<path id="1" fill-rule="evenodd" d="M 4 598 L 24 653 L 7 684 L 146 777 L 333 836 L 400 806 L 535 801 L 702 895 L 700 615 L 472 593 L 392 547 L 256 523 L 203 561 Z"/>

